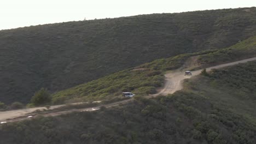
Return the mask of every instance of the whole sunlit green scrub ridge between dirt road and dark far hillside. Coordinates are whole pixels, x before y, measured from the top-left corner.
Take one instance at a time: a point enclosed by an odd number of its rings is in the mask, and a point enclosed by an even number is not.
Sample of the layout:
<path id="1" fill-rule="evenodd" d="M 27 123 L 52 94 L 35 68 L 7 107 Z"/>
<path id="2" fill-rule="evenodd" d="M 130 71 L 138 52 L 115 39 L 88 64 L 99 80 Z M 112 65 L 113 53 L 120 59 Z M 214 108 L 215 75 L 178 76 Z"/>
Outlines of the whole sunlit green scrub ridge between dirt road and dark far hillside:
<path id="1" fill-rule="evenodd" d="M 199 69 L 214 64 L 238 61 L 256 56 L 256 37 L 251 37 L 225 49 L 187 53 L 119 71 L 112 75 L 53 94 L 53 104 L 66 100 L 106 100 L 120 98 L 121 92 L 132 91 L 138 95 L 156 93 L 164 83 L 164 73 L 178 68 Z M 196 57 L 190 62 L 191 57 Z M 187 63 L 191 63 L 187 64 Z"/>

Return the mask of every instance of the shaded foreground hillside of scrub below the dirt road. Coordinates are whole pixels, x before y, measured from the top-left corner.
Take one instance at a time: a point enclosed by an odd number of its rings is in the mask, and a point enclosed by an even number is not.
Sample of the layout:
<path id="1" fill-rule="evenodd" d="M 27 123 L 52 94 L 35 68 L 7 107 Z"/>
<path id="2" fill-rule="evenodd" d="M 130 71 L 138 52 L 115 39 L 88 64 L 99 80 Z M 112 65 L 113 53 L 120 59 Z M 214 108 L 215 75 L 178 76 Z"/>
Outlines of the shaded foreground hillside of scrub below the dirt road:
<path id="1" fill-rule="evenodd" d="M 255 68 L 254 61 L 213 70 L 167 97 L 7 123 L 0 143 L 254 144 Z"/>

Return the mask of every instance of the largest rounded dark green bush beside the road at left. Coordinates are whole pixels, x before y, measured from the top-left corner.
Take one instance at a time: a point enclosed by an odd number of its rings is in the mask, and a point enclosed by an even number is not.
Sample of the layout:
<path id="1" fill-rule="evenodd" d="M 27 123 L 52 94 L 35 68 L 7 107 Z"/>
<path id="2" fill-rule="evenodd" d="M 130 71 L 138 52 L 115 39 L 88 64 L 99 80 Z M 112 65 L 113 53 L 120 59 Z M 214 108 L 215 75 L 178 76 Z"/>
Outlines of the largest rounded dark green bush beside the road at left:
<path id="1" fill-rule="evenodd" d="M 31 103 L 34 104 L 35 106 L 45 105 L 50 103 L 50 101 L 51 101 L 50 93 L 45 88 L 41 88 L 31 98 Z"/>

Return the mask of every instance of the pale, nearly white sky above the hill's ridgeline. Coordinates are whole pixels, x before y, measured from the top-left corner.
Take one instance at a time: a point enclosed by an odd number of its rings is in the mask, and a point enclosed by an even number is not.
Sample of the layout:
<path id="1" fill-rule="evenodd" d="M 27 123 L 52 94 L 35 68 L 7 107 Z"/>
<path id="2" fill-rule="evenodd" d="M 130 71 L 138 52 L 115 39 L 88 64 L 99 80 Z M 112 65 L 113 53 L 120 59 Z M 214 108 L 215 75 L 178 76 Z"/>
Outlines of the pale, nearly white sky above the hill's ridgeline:
<path id="1" fill-rule="evenodd" d="M 153 13 L 256 7 L 255 0 L 0 0 L 0 29 Z"/>

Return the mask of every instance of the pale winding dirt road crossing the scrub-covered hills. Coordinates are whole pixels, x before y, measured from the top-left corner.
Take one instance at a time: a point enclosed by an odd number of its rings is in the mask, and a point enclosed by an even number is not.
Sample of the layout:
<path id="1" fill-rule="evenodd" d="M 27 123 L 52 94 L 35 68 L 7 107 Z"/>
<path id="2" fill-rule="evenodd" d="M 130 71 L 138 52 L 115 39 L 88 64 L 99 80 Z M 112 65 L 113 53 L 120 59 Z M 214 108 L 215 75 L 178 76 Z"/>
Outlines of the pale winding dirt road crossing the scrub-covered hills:
<path id="1" fill-rule="evenodd" d="M 216 65 L 214 67 L 209 67 L 209 68 L 206 68 L 206 70 L 209 71 L 211 69 L 223 68 L 223 67 L 227 67 L 227 66 L 230 66 L 230 65 L 234 65 L 234 64 L 238 64 L 238 63 L 246 63 L 248 61 L 255 61 L 255 60 L 256 60 L 256 57 L 243 59 L 241 61 L 236 61 L 236 62 Z M 191 71 L 191 73 L 193 74 L 193 76 L 195 76 L 195 75 L 199 75 L 201 73 L 201 71 L 202 71 L 202 69 L 196 70 L 196 71 Z M 167 94 L 172 94 L 176 91 L 179 91 L 179 90 L 182 89 L 182 81 L 184 79 L 189 79 L 190 77 L 191 76 L 184 76 L 184 71 L 181 71 L 181 70 L 172 71 L 171 73 L 167 73 L 165 75 L 165 86 L 164 86 L 164 88 L 162 88 L 159 93 L 152 94 L 150 96 L 156 97 L 158 95 L 167 95 Z M 115 103 L 112 103 L 112 104 L 107 104 L 107 105 L 104 105 L 104 106 L 106 106 L 107 108 L 108 107 L 113 107 L 113 106 L 117 106 L 117 105 L 122 104 L 122 103 L 127 103 L 131 100 L 132 99 L 118 101 L 118 102 L 115 102 Z M 65 106 L 65 105 L 51 106 L 50 109 L 56 109 L 57 107 L 61 107 L 61 106 Z M 22 121 L 24 119 L 29 119 L 31 117 L 27 117 L 28 113 L 31 113 L 31 112 L 36 111 L 36 110 L 42 110 L 42 109 L 46 109 L 46 107 L 34 107 L 34 108 L 31 108 L 31 109 L 3 111 L 3 112 L 0 112 L 0 122 L 15 122 L 15 121 Z M 85 109 L 75 109 L 75 110 L 65 110 L 65 111 L 59 111 L 59 112 L 50 112 L 50 113 L 47 113 L 43 116 L 57 116 L 57 115 L 62 115 L 64 113 L 71 113 L 71 112 L 74 112 L 74 111 L 94 111 L 94 110 L 98 110 L 98 107 L 89 107 L 89 108 L 85 108 Z"/>

